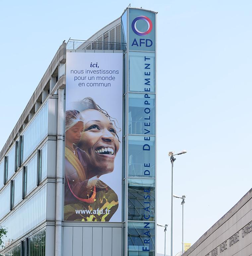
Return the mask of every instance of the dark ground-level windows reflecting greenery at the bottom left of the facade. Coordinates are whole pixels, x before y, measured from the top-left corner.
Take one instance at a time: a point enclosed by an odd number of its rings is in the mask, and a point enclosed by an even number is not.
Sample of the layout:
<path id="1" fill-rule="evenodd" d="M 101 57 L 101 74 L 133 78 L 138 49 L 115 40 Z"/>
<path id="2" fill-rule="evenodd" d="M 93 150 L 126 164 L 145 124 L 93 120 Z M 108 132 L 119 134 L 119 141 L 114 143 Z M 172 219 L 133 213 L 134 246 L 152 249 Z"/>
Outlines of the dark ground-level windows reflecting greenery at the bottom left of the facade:
<path id="1" fill-rule="evenodd" d="M 45 256 L 45 229 L 21 241 L 4 253 L 4 256 Z"/>

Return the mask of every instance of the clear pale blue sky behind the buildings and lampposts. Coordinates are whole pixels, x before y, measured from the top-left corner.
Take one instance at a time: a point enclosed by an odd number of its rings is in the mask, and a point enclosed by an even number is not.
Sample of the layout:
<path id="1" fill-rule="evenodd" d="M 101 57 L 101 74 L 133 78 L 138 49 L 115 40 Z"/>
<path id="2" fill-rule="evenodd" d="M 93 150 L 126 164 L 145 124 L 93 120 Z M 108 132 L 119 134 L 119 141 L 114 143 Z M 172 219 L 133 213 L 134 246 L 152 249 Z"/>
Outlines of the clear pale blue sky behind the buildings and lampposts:
<path id="1" fill-rule="evenodd" d="M 0 3 L 2 148 L 62 41 L 89 38 L 129 2 Z M 252 1 L 130 3 L 158 12 L 157 220 L 170 224 L 167 152 L 186 149 L 174 163 L 174 194 L 186 195 L 184 241 L 194 243 L 252 187 Z M 175 255 L 179 199 L 173 229 Z M 159 253 L 163 240 L 158 227 Z"/>

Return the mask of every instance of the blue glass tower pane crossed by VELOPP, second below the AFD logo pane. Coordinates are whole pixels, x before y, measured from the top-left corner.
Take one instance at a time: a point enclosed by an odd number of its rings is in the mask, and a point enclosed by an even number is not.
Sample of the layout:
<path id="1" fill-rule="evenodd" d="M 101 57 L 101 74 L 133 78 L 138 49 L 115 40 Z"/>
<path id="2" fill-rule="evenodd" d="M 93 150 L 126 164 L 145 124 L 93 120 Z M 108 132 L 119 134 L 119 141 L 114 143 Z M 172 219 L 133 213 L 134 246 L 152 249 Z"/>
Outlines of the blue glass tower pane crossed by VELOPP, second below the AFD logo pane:
<path id="1" fill-rule="evenodd" d="M 129 93 L 129 134 L 155 135 L 155 94 Z"/>

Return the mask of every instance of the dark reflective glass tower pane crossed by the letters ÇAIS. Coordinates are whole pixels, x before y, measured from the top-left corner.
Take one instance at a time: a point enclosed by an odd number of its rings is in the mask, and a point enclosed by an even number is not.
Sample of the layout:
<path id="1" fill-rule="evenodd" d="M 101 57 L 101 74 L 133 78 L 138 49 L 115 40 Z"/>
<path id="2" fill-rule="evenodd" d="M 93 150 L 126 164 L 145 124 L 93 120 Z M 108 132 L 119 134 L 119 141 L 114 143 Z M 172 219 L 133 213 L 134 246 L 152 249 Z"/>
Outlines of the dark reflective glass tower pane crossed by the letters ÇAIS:
<path id="1" fill-rule="evenodd" d="M 128 219 L 154 221 L 155 180 L 128 179 Z"/>

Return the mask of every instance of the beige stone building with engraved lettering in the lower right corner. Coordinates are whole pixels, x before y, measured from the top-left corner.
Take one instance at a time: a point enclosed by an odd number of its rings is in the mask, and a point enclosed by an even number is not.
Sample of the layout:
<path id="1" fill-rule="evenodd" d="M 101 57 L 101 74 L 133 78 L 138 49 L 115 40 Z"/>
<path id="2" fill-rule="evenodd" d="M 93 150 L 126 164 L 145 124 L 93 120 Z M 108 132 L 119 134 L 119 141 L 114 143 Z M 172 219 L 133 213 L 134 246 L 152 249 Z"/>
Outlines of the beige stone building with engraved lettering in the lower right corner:
<path id="1" fill-rule="evenodd" d="M 252 255 L 252 189 L 183 256 Z"/>

